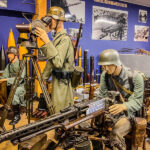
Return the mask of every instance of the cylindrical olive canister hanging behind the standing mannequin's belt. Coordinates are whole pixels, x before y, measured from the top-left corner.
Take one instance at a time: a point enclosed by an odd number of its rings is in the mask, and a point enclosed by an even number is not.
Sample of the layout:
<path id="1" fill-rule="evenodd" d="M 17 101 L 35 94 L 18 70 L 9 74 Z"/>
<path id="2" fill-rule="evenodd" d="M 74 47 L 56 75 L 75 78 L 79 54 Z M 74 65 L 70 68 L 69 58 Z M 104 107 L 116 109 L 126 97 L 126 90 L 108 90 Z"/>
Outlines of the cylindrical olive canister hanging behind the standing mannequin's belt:
<path id="1" fill-rule="evenodd" d="M 84 69 L 80 66 L 75 66 L 72 74 L 71 84 L 73 88 L 76 88 L 80 84 L 80 79 L 82 77 L 82 73 Z"/>

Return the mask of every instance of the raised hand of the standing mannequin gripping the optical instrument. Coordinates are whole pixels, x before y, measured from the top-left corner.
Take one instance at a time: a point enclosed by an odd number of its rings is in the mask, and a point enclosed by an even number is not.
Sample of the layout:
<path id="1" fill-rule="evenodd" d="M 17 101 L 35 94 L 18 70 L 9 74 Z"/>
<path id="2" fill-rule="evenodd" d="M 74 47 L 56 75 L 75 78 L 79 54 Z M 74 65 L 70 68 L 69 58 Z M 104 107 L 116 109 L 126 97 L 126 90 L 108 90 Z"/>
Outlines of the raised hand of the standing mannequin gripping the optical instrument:
<path id="1" fill-rule="evenodd" d="M 35 34 L 45 43 L 49 43 L 50 40 L 49 40 L 49 37 L 48 37 L 48 34 L 46 33 L 45 30 L 39 28 L 39 27 L 36 27 L 35 29 Z"/>

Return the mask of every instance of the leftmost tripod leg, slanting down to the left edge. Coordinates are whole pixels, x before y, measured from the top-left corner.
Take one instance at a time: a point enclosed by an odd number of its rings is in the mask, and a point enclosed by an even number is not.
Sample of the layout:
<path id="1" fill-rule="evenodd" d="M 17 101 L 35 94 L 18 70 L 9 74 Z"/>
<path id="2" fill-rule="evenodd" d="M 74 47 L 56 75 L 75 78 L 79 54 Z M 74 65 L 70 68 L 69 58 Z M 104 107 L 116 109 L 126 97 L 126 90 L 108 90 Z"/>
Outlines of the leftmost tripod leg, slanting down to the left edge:
<path id="1" fill-rule="evenodd" d="M 16 89 L 17 89 L 17 87 L 19 85 L 19 81 L 20 81 L 20 78 L 21 78 L 21 75 L 22 75 L 25 63 L 26 63 L 26 58 L 24 60 L 22 60 L 22 62 L 20 64 L 20 69 L 18 70 L 17 76 L 15 77 L 15 80 L 14 80 L 14 83 L 11 86 L 11 90 L 10 90 L 8 99 L 7 99 L 5 107 L 4 107 L 3 115 L 2 115 L 2 118 L 0 120 L 0 128 L 3 128 L 3 126 L 4 126 L 5 119 L 7 117 L 8 110 L 10 109 L 10 105 L 11 105 L 12 100 L 14 98 L 14 94 L 16 92 Z"/>

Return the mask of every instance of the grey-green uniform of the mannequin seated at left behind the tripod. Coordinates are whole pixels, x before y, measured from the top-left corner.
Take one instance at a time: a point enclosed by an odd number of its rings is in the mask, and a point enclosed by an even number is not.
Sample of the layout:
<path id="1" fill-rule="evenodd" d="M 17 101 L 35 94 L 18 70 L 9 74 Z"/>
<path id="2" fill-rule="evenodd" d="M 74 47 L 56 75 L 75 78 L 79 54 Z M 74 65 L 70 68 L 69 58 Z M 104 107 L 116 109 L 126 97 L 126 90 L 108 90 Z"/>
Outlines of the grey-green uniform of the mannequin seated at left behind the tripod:
<path id="1" fill-rule="evenodd" d="M 17 71 L 19 70 L 19 60 L 17 59 L 14 63 L 9 63 L 2 76 L 0 76 L 0 79 L 7 78 L 7 86 L 11 87 L 15 76 L 17 74 Z M 21 78 L 23 79 L 25 76 L 25 69 L 22 73 Z M 21 105 L 21 106 L 26 106 L 25 100 L 24 100 L 24 94 L 25 94 L 25 88 L 24 88 L 24 83 L 23 80 L 20 80 L 20 84 L 16 89 L 12 105 Z"/>

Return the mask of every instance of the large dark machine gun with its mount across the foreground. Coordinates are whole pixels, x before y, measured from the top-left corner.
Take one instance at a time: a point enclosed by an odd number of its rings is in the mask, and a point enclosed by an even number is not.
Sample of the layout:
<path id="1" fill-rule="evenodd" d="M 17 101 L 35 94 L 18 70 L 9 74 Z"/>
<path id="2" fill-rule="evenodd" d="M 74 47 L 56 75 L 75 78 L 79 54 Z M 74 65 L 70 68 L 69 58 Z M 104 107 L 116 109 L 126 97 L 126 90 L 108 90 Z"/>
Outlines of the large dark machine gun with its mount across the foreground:
<path id="1" fill-rule="evenodd" d="M 13 144 L 18 144 L 53 129 L 56 129 L 58 140 L 58 144 L 54 145 L 55 148 L 62 146 L 68 149 L 89 142 L 89 138 L 92 139 L 89 135 L 95 132 L 98 133 L 98 139 L 103 141 L 102 138 L 99 138 L 101 129 L 96 125 L 97 123 L 95 124 L 97 127 L 93 127 L 86 126 L 85 122 L 90 119 L 93 122 L 98 116 L 104 116 L 105 113 L 108 113 L 109 106 L 118 102 L 118 98 L 119 92 L 110 91 L 108 97 L 77 103 L 43 120 L 1 133 L 0 143 L 10 140 Z M 108 140 L 105 139 L 105 141 Z"/>

